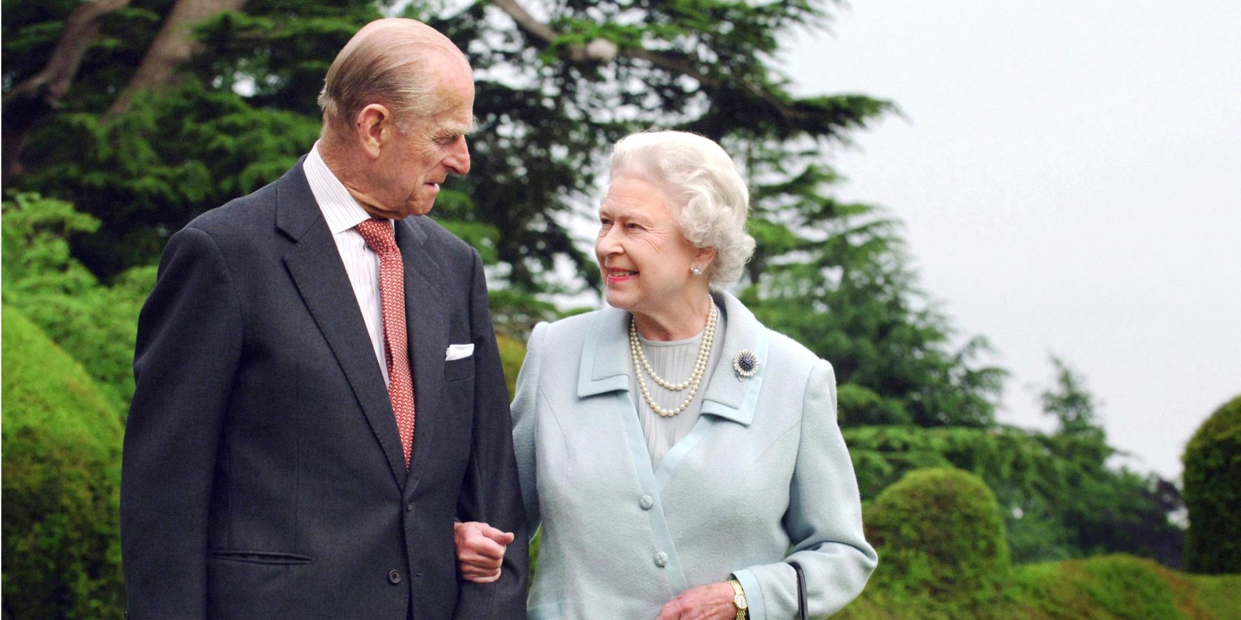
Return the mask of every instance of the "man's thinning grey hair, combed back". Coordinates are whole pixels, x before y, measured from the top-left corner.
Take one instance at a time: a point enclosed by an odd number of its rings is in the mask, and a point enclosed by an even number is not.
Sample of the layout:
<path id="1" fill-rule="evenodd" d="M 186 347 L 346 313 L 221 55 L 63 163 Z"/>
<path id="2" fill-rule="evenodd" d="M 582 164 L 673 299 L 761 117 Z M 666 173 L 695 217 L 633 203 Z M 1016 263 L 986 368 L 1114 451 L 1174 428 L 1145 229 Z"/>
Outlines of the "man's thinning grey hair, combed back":
<path id="1" fill-rule="evenodd" d="M 386 105 L 397 126 L 410 129 L 434 108 L 434 83 L 428 71 L 437 53 L 465 56 L 447 37 L 416 20 L 376 20 L 354 35 L 336 55 L 319 108 L 338 129 L 350 126 L 362 108 Z"/>

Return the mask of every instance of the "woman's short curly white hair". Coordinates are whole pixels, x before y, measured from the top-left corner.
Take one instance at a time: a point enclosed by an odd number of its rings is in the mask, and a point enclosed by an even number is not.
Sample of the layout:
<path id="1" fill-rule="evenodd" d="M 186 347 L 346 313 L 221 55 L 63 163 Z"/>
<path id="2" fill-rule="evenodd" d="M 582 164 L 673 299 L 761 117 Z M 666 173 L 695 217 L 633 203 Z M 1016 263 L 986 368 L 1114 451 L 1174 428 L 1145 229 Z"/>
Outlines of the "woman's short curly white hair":
<path id="1" fill-rule="evenodd" d="M 714 140 L 685 131 L 629 134 L 612 148 L 611 177 L 637 176 L 664 190 L 679 210 L 681 234 L 699 248 L 715 248 L 706 275 L 730 284 L 755 253 L 746 232 L 750 190 L 732 157 Z"/>

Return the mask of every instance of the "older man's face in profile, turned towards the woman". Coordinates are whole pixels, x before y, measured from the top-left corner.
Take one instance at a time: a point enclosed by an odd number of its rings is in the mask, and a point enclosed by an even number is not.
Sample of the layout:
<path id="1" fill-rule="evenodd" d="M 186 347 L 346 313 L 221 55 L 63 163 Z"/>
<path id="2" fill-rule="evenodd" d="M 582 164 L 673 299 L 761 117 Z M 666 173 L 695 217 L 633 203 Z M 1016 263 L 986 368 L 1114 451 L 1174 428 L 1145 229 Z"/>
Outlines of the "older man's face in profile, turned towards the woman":
<path id="1" fill-rule="evenodd" d="M 465 133 L 474 119 L 474 78 L 455 57 L 436 64 L 436 105 L 431 115 L 411 119 L 397 129 L 376 161 L 374 195 L 396 219 L 424 216 L 449 174 L 469 172 Z"/>

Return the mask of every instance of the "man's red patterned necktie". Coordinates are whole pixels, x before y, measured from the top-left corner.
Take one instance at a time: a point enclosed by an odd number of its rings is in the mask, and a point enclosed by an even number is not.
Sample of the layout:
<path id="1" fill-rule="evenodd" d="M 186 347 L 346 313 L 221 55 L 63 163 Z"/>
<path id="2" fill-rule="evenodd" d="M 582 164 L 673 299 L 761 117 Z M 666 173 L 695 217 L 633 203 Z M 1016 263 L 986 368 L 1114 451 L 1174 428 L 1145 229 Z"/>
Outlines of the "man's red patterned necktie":
<path id="1" fill-rule="evenodd" d="M 396 429 L 410 469 L 413 449 L 413 374 L 410 372 L 410 340 L 405 331 L 405 263 L 396 247 L 390 219 L 371 218 L 357 224 L 366 247 L 380 255 L 380 294 L 383 300 L 383 342 L 387 345 L 388 399 L 396 414 Z"/>

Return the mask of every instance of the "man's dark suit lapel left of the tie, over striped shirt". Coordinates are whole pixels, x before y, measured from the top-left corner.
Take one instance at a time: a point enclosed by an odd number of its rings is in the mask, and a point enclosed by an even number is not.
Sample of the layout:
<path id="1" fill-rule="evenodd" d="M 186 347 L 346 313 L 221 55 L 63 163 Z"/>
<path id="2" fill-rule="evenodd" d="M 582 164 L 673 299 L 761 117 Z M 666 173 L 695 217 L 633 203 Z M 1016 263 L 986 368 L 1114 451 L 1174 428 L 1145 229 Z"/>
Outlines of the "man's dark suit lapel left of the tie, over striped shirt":
<path id="1" fill-rule="evenodd" d="M 294 242 L 284 254 L 289 275 L 349 379 L 375 439 L 383 448 L 392 476 L 397 485 L 403 485 L 405 454 L 383 374 L 375 361 L 375 350 L 340 252 L 310 192 L 300 161 L 279 181 L 276 219 L 280 231 Z"/>

